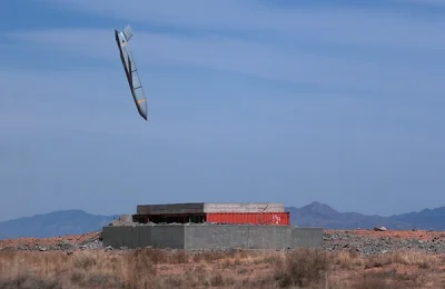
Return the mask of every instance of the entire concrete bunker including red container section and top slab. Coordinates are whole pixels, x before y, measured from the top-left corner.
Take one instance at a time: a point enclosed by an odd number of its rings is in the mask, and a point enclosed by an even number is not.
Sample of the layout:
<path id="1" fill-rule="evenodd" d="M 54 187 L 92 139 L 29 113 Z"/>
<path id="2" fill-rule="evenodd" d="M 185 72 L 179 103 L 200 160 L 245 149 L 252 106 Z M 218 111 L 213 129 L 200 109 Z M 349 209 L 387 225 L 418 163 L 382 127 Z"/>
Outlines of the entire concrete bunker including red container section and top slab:
<path id="1" fill-rule="evenodd" d="M 284 203 L 140 205 L 132 226 L 106 226 L 112 248 L 287 249 L 323 247 L 323 228 L 290 226 Z"/>

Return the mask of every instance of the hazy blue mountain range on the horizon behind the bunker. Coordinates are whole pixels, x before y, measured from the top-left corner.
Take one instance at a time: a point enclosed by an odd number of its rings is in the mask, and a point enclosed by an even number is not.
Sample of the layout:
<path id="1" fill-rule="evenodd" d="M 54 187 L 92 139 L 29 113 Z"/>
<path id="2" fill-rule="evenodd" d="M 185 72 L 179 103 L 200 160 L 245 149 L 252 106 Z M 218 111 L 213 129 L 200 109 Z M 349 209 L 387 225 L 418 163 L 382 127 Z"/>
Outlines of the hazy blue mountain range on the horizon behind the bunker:
<path id="1" fill-rule="evenodd" d="M 326 229 L 388 229 L 445 230 L 445 207 L 425 209 L 419 212 L 390 217 L 366 216 L 357 212 L 338 212 L 327 205 L 312 202 L 305 207 L 288 207 L 291 225 L 299 227 L 324 227 Z M 21 237 L 59 237 L 100 230 L 115 216 L 98 216 L 82 210 L 55 211 L 0 222 L 0 239 Z"/>

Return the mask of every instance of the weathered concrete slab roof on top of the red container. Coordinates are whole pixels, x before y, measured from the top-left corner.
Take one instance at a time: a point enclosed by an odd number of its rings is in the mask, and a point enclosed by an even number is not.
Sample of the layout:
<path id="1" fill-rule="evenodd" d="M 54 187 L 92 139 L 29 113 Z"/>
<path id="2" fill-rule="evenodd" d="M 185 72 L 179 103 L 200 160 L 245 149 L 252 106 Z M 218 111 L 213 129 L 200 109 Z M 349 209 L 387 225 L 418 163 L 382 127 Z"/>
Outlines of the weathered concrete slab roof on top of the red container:
<path id="1" fill-rule="evenodd" d="M 190 202 L 138 205 L 137 215 L 207 213 L 207 212 L 284 212 L 283 202 Z"/>

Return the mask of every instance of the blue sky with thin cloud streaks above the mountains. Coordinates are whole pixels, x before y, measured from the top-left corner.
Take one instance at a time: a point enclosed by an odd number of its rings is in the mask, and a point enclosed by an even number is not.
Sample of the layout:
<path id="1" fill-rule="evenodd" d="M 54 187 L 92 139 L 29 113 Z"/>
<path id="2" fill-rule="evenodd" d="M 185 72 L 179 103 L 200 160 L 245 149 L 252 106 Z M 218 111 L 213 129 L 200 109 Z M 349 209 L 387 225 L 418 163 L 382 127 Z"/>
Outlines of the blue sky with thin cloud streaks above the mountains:
<path id="1" fill-rule="evenodd" d="M 445 206 L 445 1 L 3 4 L 0 220 L 138 203 Z M 137 113 L 115 44 L 130 23 Z"/>

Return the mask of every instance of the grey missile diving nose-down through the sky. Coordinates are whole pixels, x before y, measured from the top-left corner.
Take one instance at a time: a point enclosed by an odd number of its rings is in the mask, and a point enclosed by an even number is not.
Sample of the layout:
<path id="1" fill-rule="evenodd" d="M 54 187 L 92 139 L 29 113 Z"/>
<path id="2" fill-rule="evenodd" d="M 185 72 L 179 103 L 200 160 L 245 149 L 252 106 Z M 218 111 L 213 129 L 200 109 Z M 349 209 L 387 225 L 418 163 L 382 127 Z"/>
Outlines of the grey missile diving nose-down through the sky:
<path id="1" fill-rule="evenodd" d="M 130 26 L 126 26 L 122 31 L 115 30 L 116 43 L 119 48 L 120 60 L 127 76 L 132 98 L 139 114 L 147 120 L 147 99 L 144 94 L 142 84 L 139 79 L 138 70 L 131 54 L 129 41 L 132 37 Z"/>

